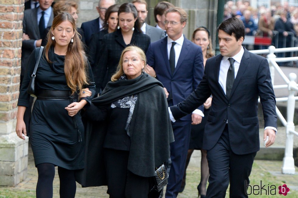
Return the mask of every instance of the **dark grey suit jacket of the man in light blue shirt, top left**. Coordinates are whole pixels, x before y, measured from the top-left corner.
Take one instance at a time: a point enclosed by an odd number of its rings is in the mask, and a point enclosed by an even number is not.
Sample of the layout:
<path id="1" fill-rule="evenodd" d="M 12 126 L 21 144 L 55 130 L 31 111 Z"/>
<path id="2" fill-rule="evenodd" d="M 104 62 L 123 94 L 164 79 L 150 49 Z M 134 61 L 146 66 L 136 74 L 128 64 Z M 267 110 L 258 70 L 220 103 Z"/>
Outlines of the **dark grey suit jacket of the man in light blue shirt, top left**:
<path id="1" fill-rule="evenodd" d="M 37 24 L 37 9 L 27 9 L 24 11 L 23 19 L 23 33 L 29 36 L 29 40 L 22 41 L 22 61 L 21 61 L 21 78 L 24 76 L 25 69 L 27 67 L 28 59 L 31 52 L 35 49 L 34 41 L 41 39 L 39 27 Z M 51 26 L 54 19 L 54 13 L 50 16 L 50 20 L 47 26 Z"/>

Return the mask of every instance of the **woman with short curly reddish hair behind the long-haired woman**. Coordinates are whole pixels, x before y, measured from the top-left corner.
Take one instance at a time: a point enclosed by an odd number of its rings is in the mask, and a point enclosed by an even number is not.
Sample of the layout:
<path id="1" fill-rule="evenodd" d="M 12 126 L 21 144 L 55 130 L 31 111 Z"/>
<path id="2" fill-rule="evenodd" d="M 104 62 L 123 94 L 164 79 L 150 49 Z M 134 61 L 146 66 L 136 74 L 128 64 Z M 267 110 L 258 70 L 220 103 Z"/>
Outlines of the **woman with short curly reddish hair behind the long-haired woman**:
<path id="1" fill-rule="evenodd" d="M 53 6 L 53 12 L 54 12 L 54 17 L 57 16 L 58 14 L 61 14 L 62 12 L 68 12 L 70 15 L 72 15 L 73 19 L 75 19 L 75 22 L 77 21 L 78 17 L 78 4 L 73 1 L 58 1 L 54 4 Z M 47 44 L 47 34 L 50 31 L 51 26 L 48 26 L 42 35 L 42 41 L 41 41 L 41 46 L 45 46 Z M 77 28 L 77 32 L 79 33 L 79 38 L 83 42 L 85 46 L 85 37 L 84 37 L 84 32 L 82 31 L 81 28 Z"/>

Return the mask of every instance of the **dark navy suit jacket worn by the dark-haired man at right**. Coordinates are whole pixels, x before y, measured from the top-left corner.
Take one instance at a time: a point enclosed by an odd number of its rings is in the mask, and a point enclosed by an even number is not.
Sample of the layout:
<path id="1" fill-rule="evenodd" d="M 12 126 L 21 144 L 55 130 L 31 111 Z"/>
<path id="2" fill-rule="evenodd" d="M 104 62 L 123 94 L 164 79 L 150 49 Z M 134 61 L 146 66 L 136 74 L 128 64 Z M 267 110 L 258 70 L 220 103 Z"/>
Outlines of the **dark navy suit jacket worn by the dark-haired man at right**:
<path id="1" fill-rule="evenodd" d="M 197 89 L 182 103 L 171 107 L 174 118 L 190 113 L 212 93 L 212 105 L 205 126 L 203 149 L 210 150 L 219 140 L 228 120 L 230 146 L 238 155 L 260 149 L 258 98 L 263 108 L 265 127 L 277 128 L 275 95 L 268 61 L 244 48 L 230 99 L 220 86 L 219 69 L 222 55 L 209 58 L 205 75 Z"/>

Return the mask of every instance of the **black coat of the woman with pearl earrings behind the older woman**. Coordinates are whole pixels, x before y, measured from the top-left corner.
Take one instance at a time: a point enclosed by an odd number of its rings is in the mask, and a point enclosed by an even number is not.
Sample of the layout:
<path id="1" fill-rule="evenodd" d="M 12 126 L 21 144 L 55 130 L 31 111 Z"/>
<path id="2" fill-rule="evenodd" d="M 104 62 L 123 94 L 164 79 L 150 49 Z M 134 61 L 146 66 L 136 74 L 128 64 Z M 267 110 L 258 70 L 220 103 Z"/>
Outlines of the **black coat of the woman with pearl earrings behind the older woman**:
<path id="1" fill-rule="evenodd" d="M 150 37 L 139 32 L 137 29 L 133 32 L 130 44 L 126 45 L 121 33 L 121 29 L 115 32 L 106 34 L 101 41 L 100 60 L 93 69 L 94 80 L 96 87 L 105 87 L 110 81 L 112 75 L 116 72 L 120 56 L 124 48 L 127 46 L 138 46 L 145 53 L 150 44 Z M 107 78 L 105 78 L 107 72 Z M 105 80 L 107 79 L 107 80 Z"/>

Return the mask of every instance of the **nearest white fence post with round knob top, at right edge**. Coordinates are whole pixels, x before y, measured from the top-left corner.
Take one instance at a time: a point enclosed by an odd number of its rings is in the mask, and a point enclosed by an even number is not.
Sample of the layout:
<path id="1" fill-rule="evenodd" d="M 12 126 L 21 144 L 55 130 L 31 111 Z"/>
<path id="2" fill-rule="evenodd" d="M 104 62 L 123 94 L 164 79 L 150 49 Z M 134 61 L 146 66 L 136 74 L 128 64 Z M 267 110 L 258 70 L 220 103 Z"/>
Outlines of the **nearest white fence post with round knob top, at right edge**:
<path id="1" fill-rule="evenodd" d="M 295 73 L 290 73 L 288 84 L 289 97 L 287 106 L 287 126 L 286 126 L 286 149 L 285 157 L 283 158 L 282 173 L 283 174 L 295 174 L 295 164 L 293 158 L 293 144 L 294 134 L 291 131 L 295 131 L 294 125 L 294 110 L 295 110 L 295 90 L 291 89 L 292 86 L 296 86 Z"/>

